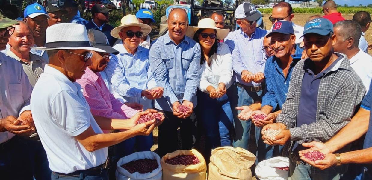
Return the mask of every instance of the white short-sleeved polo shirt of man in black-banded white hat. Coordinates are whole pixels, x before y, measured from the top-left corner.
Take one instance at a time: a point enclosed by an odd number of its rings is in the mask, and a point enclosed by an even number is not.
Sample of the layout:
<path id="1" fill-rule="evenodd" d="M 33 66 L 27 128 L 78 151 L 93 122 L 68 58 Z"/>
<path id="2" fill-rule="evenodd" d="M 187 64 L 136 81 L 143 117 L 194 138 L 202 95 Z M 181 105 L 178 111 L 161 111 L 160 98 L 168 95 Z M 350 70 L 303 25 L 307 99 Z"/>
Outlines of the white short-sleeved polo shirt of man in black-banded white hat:
<path id="1" fill-rule="evenodd" d="M 32 91 L 31 104 L 32 117 L 52 171 L 67 174 L 105 163 L 107 147 L 89 152 L 75 139 L 90 126 L 94 132 L 103 133 L 78 83 L 45 65 Z"/>

